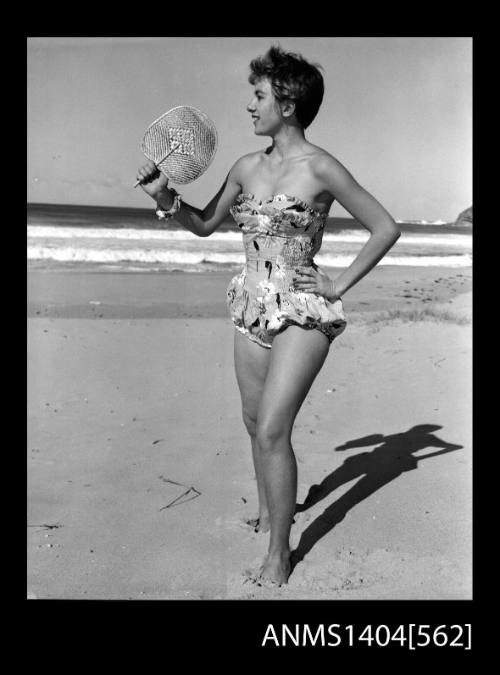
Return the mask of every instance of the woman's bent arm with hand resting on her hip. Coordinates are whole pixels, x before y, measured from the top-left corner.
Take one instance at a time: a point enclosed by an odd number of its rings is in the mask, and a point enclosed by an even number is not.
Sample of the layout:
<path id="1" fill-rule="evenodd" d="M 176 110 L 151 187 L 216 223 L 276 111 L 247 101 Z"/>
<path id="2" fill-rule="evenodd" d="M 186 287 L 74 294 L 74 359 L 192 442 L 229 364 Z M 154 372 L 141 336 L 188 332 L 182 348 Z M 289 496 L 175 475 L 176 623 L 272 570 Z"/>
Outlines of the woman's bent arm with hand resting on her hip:
<path id="1" fill-rule="evenodd" d="M 330 194 L 370 232 L 370 238 L 356 258 L 334 280 L 333 292 L 327 297 L 335 300 L 375 267 L 394 246 L 401 230 L 384 207 L 331 155 L 318 162 L 316 171 Z"/>

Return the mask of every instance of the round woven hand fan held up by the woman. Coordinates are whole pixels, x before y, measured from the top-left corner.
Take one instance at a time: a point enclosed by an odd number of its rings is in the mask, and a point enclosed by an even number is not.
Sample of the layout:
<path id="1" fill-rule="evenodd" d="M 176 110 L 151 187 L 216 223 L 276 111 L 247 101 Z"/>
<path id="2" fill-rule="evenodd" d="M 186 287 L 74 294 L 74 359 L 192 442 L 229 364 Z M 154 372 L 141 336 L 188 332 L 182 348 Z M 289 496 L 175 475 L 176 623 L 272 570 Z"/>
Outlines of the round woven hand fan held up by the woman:
<path id="1" fill-rule="evenodd" d="M 172 108 L 150 124 L 141 145 L 146 157 L 179 185 L 199 178 L 216 149 L 214 123 L 201 110 L 188 105 Z"/>

